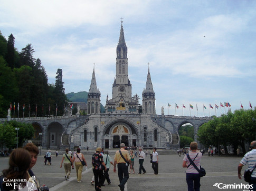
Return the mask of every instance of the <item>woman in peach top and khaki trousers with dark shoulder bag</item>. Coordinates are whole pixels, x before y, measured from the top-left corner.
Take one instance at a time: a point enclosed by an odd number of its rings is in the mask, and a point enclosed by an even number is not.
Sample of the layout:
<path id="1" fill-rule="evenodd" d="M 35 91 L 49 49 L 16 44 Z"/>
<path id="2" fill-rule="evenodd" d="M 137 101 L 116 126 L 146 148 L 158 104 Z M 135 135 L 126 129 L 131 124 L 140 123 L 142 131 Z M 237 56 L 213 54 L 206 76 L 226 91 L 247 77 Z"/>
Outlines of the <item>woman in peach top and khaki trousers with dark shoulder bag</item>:
<path id="1" fill-rule="evenodd" d="M 86 159 L 84 158 L 83 154 L 80 153 L 81 148 L 77 148 L 77 153 L 74 154 L 73 160 L 72 160 L 72 168 L 75 165 L 75 170 L 77 170 L 77 180 L 78 183 L 81 183 L 81 178 L 82 178 L 82 171 L 83 171 L 83 165 L 82 162 L 86 164 Z"/>

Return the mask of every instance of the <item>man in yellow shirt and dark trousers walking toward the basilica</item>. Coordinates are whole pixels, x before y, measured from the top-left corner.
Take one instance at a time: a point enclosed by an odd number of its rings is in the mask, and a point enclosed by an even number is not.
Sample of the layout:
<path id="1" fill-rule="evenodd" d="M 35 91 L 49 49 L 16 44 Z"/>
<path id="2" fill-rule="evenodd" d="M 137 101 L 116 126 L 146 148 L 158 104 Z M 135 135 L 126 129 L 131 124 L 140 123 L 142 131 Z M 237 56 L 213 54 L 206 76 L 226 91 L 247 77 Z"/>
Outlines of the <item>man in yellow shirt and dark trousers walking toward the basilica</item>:
<path id="1" fill-rule="evenodd" d="M 120 144 L 120 150 L 117 150 L 114 158 L 114 169 L 113 172 L 116 173 L 116 165 L 118 168 L 118 178 L 119 178 L 119 188 L 121 191 L 125 190 L 125 184 L 127 180 L 129 179 L 129 173 L 128 173 L 128 163 L 131 164 L 131 157 L 127 150 L 125 150 L 125 144 Z M 132 165 L 131 165 L 132 167 Z"/>

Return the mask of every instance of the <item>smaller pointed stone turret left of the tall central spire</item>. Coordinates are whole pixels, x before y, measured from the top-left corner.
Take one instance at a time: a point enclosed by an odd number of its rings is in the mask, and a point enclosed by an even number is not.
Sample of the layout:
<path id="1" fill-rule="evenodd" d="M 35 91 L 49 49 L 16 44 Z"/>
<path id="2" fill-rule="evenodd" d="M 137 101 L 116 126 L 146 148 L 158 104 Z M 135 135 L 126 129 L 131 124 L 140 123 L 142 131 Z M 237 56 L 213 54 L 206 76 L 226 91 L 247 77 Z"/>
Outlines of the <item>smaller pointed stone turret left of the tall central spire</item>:
<path id="1" fill-rule="evenodd" d="M 88 93 L 87 105 L 88 114 L 100 114 L 100 91 L 97 88 L 94 67 L 91 77 L 91 86 Z"/>

